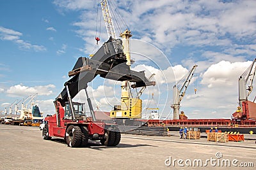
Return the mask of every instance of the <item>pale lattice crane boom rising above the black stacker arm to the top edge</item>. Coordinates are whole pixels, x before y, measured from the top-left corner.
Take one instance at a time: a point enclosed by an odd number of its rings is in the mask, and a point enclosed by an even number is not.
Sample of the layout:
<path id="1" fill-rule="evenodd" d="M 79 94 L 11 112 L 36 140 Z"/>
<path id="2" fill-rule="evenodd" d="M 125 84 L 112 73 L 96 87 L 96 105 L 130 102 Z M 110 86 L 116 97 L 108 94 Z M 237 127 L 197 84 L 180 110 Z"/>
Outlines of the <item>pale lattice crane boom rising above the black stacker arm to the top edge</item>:
<path id="1" fill-rule="evenodd" d="M 102 0 L 102 1 L 100 1 L 100 4 L 101 4 L 103 17 L 104 17 L 104 22 L 105 22 L 106 29 L 108 32 L 108 37 L 112 37 L 112 38 L 116 39 L 115 27 L 113 24 L 111 13 L 109 11 L 108 1 Z"/>

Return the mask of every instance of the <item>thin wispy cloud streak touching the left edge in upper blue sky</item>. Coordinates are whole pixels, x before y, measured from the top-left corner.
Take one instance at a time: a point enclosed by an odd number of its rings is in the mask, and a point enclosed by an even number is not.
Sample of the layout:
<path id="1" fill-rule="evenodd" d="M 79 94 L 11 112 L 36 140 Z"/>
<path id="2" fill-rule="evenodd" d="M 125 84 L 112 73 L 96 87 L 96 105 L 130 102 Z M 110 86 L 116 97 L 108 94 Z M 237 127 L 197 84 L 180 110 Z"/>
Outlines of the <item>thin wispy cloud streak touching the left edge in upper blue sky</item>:
<path id="1" fill-rule="evenodd" d="M 21 32 L 0 26 L 0 39 L 17 43 L 21 50 L 34 50 L 36 52 L 46 50 L 46 48 L 42 45 L 32 45 L 31 43 L 20 39 L 20 36 L 22 36 Z"/>

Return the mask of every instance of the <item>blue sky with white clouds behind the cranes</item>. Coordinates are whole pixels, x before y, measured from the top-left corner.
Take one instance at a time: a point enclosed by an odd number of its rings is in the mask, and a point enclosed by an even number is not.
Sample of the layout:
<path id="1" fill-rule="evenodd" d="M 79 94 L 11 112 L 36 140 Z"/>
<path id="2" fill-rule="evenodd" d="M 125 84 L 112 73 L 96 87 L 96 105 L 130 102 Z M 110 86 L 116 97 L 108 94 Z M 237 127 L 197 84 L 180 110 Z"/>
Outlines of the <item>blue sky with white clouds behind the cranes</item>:
<path id="1" fill-rule="evenodd" d="M 68 71 L 78 57 L 92 53 L 97 23 L 99 45 L 108 39 L 100 9 L 97 21 L 98 2 L 1 1 L 0 111 L 37 92 L 40 110 L 54 113 L 52 101 L 68 80 Z M 115 0 L 109 4 L 132 31 L 136 60 L 132 67 L 147 70 L 147 75 L 158 73 L 157 86 L 142 97 L 144 107 L 154 92 L 163 116 L 172 112 L 175 80 L 197 64 L 197 93 L 193 79 L 180 110 L 189 118 L 230 118 L 237 107 L 237 78 L 256 56 L 255 1 Z M 175 78 L 170 78 L 173 73 Z M 97 78 L 89 89 L 93 105 L 111 110 L 120 103 L 119 86 Z M 255 95 L 250 94 L 251 101 Z"/>

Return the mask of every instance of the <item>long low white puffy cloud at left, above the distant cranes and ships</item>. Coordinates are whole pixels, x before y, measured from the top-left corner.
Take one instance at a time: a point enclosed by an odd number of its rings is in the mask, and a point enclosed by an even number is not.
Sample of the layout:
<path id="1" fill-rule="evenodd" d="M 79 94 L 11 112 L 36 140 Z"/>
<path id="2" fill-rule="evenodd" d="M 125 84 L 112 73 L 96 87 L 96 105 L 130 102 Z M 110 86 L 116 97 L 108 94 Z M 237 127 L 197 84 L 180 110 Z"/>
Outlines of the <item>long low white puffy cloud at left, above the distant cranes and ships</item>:
<path id="1" fill-rule="evenodd" d="M 33 94 L 38 94 L 38 96 L 49 96 L 51 95 L 52 89 L 55 88 L 55 85 L 40 85 L 40 86 L 35 86 L 35 87 L 27 87 L 24 85 L 15 85 L 10 87 L 9 89 L 6 90 L 6 94 L 8 96 L 12 97 L 24 97 L 24 96 L 29 96 Z"/>

